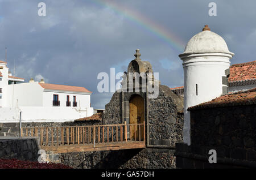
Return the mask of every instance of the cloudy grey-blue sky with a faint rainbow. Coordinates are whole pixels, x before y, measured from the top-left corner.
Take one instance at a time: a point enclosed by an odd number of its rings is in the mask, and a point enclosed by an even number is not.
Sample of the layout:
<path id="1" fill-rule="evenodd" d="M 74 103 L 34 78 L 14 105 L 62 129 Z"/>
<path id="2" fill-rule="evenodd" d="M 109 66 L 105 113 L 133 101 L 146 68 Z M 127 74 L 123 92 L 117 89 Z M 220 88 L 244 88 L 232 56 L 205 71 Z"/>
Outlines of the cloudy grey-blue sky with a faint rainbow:
<path id="1" fill-rule="evenodd" d="M 38 16 L 39 2 L 46 16 Z M 210 2 L 217 16 L 208 15 Z M 98 73 L 127 71 L 136 49 L 161 84 L 183 85 L 178 55 L 205 24 L 235 54 L 231 64 L 255 60 L 255 0 L 0 0 L 0 59 L 7 47 L 16 76 L 85 87 L 92 107 L 105 108 L 113 93 L 98 93 Z"/>

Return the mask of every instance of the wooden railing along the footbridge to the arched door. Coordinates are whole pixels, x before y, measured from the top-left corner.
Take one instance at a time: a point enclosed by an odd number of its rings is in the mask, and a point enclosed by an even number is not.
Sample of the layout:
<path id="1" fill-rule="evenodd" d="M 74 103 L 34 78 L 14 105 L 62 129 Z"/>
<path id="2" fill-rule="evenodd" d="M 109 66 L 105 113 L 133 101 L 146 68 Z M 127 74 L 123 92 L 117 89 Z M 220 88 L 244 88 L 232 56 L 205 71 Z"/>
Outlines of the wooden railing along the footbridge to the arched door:
<path id="1" fill-rule="evenodd" d="M 127 137 L 130 130 L 130 138 Z M 49 145 L 82 145 L 115 142 L 142 142 L 145 140 L 145 123 L 65 126 L 65 127 L 22 127 L 22 136 L 38 136 L 40 144 Z"/>

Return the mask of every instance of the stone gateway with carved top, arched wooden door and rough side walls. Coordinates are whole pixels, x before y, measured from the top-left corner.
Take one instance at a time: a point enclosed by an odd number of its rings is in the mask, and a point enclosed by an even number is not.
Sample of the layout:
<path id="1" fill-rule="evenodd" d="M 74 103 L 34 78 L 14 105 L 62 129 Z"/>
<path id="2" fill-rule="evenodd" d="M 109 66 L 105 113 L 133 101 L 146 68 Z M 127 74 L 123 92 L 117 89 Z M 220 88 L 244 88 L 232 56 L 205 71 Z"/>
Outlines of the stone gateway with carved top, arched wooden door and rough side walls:
<path id="1" fill-rule="evenodd" d="M 153 72 L 150 62 L 141 61 L 141 53 L 136 50 L 135 59 L 129 63 L 127 79 L 129 72 Z M 150 78 L 150 79 L 148 79 Z M 133 80 L 133 82 L 130 81 Z M 183 128 L 183 96 L 178 96 L 166 85 L 161 85 L 159 81 L 154 80 L 154 76 L 147 76 L 146 82 L 152 83 L 158 88 L 158 97 L 149 98 L 148 87 L 143 92 L 143 86 L 146 85 L 139 81 L 139 92 L 135 92 L 135 78 L 123 80 L 122 89 L 133 84 L 133 92 L 115 92 L 109 104 L 105 107 L 104 123 L 146 123 L 146 145 L 147 147 L 175 147 L 175 143 L 182 140 Z M 154 82 L 158 84 L 154 84 Z M 128 90 L 128 89 L 127 89 Z M 130 138 L 133 138 L 134 131 L 130 131 Z M 137 136 L 138 137 L 138 136 Z"/>

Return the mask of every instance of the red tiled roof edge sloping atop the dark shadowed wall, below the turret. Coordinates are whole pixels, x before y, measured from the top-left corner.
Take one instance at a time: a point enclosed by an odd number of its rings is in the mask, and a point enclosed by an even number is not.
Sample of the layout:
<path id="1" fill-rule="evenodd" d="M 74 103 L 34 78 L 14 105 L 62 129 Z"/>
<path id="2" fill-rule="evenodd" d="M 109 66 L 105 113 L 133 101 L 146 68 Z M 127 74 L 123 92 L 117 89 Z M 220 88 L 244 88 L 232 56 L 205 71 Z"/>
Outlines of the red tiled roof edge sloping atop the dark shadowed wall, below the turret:
<path id="1" fill-rule="evenodd" d="M 250 104 L 256 104 L 256 88 L 247 91 L 229 93 L 228 95 L 214 98 L 212 101 L 192 106 L 188 108 L 188 110 Z"/>

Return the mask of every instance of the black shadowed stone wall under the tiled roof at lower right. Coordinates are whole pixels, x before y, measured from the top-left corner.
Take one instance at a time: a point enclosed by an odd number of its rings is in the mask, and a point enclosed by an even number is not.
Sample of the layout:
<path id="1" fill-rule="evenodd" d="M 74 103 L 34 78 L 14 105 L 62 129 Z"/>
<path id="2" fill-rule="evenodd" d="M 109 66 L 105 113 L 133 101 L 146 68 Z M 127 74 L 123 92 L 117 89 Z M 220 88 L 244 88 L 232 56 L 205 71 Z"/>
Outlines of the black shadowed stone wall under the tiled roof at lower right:
<path id="1" fill-rule="evenodd" d="M 256 168 L 256 106 L 241 105 L 191 111 L 191 145 L 176 145 L 177 166 L 196 168 Z M 209 165 L 208 152 L 215 149 L 217 164 Z M 187 162 L 187 163 L 185 163 Z"/>

